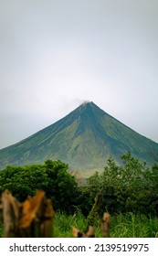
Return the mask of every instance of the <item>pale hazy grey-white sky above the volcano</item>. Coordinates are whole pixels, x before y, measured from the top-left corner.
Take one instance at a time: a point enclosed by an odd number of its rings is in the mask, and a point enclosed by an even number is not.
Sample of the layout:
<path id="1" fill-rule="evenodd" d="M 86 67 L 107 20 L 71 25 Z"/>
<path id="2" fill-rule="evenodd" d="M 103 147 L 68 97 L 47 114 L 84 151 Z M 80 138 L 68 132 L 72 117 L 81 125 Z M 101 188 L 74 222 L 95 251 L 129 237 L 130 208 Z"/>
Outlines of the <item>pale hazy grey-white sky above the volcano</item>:
<path id="1" fill-rule="evenodd" d="M 158 1 L 0 0 L 0 148 L 83 101 L 158 143 Z"/>

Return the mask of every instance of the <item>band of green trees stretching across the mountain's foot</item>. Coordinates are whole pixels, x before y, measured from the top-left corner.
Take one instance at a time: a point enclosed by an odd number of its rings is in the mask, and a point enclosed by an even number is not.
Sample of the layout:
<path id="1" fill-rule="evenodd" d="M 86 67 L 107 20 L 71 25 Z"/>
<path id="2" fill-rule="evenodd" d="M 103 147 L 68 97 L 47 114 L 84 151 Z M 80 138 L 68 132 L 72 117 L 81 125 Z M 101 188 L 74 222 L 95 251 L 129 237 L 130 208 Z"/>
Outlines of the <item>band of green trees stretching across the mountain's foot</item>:
<path id="1" fill-rule="evenodd" d="M 158 165 L 148 167 L 131 153 L 121 155 L 121 165 L 109 158 L 102 173 L 90 176 L 84 186 L 78 185 L 68 165 L 59 160 L 7 166 L 0 171 L 0 194 L 9 190 L 24 201 L 37 189 L 46 192 L 56 211 L 67 214 L 79 209 L 88 216 L 95 205 L 100 216 L 104 211 L 158 215 Z"/>

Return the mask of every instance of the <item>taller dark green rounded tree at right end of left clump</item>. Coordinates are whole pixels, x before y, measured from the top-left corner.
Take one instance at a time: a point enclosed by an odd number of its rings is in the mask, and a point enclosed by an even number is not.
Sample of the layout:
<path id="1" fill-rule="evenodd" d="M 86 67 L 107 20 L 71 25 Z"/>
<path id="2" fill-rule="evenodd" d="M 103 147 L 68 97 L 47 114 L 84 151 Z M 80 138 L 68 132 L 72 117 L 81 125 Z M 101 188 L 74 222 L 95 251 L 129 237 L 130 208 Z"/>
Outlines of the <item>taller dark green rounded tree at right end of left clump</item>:
<path id="1" fill-rule="evenodd" d="M 47 197 L 53 201 L 55 209 L 70 213 L 77 205 L 78 186 L 74 176 L 68 173 L 68 165 L 61 161 L 47 160 Z"/>

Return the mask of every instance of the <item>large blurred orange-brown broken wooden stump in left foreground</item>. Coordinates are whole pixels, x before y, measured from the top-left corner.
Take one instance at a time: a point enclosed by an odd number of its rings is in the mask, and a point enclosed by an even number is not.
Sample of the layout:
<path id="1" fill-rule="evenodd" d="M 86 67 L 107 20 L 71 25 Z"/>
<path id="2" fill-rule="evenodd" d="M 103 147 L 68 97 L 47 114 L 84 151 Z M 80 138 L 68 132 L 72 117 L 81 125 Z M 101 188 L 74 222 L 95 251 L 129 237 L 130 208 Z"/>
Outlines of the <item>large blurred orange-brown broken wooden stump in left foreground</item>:
<path id="1" fill-rule="evenodd" d="M 0 211 L 4 222 L 4 237 L 51 237 L 55 212 L 45 192 L 37 190 L 35 197 L 20 203 L 9 192 L 2 194 Z"/>

